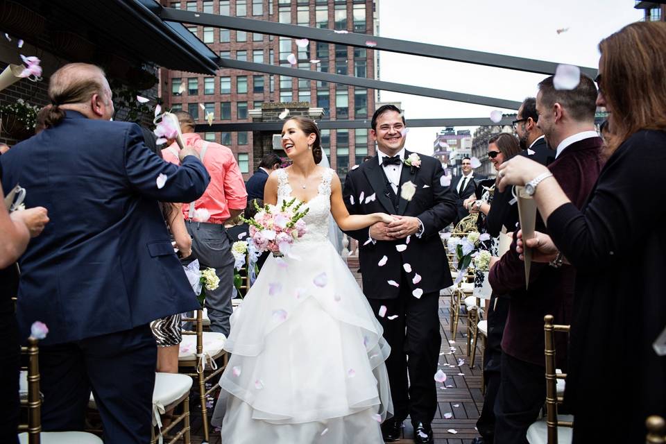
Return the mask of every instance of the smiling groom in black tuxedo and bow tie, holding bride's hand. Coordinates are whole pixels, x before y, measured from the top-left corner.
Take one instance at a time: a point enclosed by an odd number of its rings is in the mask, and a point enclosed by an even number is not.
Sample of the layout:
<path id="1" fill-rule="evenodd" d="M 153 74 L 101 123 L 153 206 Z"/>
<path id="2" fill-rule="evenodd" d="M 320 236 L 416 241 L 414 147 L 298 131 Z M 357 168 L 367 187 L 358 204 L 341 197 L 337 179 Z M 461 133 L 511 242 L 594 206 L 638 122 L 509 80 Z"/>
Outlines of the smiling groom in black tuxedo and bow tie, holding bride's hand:
<path id="1" fill-rule="evenodd" d="M 437 410 L 433 377 L 442 341 L 439 291 L 452 284 L 438 232 L 456 218 L 456 198 L 441 185 L 440 162 L 404 149 L 406 133 L 398 108 L 384 105 L 375 112 L 370 135 L 377 142 L 377 156 L 348 173 L 343 199 L 350 214 L 387 212 L 396 217 L 390 224 L 347 232 L 361 245 L 363 291 L 391 345 L 386 367 L 394 416 L 382 424 L 384 440 L 398 441 L 409 415 L 414 441 L 432 443 L 430 423 Z M 416 186 L 413 196 L 410 182 Z"/>

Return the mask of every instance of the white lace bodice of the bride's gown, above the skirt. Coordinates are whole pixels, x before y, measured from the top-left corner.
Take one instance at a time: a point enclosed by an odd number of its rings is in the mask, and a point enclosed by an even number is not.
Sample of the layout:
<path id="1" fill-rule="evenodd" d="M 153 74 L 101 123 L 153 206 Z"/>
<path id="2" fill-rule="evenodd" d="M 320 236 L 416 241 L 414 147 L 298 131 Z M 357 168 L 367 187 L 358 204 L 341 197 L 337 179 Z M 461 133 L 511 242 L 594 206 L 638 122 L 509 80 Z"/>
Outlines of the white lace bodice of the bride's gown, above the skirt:
<path id="1" fill-rule="evenodd" d="M 307 233 L 296 244 L 307 241 L 328 241 L 328 218 L 331 214 L 331 179 L 335 172 L 327 169 L 321 176 L 318 194 L 305 203 L 309 210 L 303 221 L 307 224 Z M 284 169 L 278 170 L 278 205 L 284 200 L 291 200 L 292 189 L 289 174 Z M 295 245 L 296 245 L 295 244 Z"/>

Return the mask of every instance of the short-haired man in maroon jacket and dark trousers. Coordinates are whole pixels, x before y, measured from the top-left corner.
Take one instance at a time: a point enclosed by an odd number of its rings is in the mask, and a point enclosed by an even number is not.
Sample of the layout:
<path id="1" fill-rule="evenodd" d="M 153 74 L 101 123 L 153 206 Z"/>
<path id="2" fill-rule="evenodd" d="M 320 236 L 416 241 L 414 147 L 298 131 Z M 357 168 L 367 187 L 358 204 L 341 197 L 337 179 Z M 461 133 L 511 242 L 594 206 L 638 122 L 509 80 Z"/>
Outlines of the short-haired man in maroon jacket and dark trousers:
<path id="1" fill-rule="evenodd" d="M 539 83 L 536 97 L 538 126 L 548 145 L 556 149 L 548 169 L 577 207 L 585 203 L 601 170 L 602 140 L 594 125 L 596 99 L 595 84 L 582 75 L 574 89 L 555 89 L 553 77 L 546 78 Z M 547 230 L 540 219 L 537 230 Z M 543 317 L 552 314 L 556 323 L 570 323 L 574 278 L 572 266 L 533 263 L 526 289 L 524 262 L 518 258 L 515 241 L 490 268 L 493 291 L 511 296 L 495 401 L 495 444 L 527 443 L 527 429 L 537 419 L 546 396 Z M 561 363 L 566 361 L 566 346 L 564 340 L 556 343 Z"/>

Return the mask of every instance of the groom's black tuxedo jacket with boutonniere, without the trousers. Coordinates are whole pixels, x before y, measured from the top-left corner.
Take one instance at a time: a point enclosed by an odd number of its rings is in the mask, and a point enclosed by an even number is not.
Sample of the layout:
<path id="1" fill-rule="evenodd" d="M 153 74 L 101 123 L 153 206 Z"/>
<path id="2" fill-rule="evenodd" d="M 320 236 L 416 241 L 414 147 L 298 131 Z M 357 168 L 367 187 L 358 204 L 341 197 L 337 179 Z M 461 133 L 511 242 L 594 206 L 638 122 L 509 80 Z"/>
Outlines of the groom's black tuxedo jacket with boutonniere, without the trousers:
<path id="1" fill-rule="evenodd" d="M 404 156 L 411 153 L 405 150 Z M 410 264 L 413 271 L 421 276 L 418 284 L 413 284 L 410 275 L 409 287 L 420 288 L 424 293 L 439 291 L 452 285 L 451 273 L 448 270 L 446 251 L 438 235 L 440 230 L 456 218 L 456 197 L 450 187 L 443 187 L 440 178 L 444 173 L 441 163 L 434 157 L 421 155 L 420 168 L 402 166 L 400 186 L 411 181 L 416 185 L 416 194 L 411 201 L 400 197 L 398 189 L 398 205 L 393 203 L 393 189 L 388 183 L 382 165 L 377 156 L 367 160 L 361 167 L 347 174 L 343 189 L 343 200 L 350 214 L 370 214 L 386 212 L 401 216 L 415 216 L 423 223 L 425 231 L 418 238 L 413 235 L 397 241 L 377 241 L 365 244 L 368 240 L 368 229 L 347 232 L 359 241 L 359 262 L 363 278 L 363 292 L 368 298 L 397 298 L 400 289 L 387 283 L 387 280 L 400 281 L 403 264 Z M 413 172 L 412 172 L 413 171 Z M 375 195 L 375 199 L 368 197 Z M 363 201 L 361 202 L 361 195 Z M 396 246 L 407 245 L 402 253 Z M 388 261 L 381 268 L 377 266 L 386 255 Z"/>

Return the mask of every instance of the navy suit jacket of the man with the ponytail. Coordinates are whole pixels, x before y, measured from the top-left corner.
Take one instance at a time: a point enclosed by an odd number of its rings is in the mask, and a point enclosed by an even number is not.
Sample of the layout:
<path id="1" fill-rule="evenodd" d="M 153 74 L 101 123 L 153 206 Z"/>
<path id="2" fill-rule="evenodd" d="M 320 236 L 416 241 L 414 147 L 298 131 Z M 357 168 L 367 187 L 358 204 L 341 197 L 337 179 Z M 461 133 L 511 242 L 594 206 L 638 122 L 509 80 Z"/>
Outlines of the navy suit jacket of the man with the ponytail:
<path id="1" fill-rule="evenodd" d="M 65 343 L 198 307 L 158 201 L 196 200 L 210 177 L 196 157 L 178 167 L 143 141 L 135 123 L 67 111 L 2 156 L 5 192 L 19 183 L 26 207 L 46 207 L 51 219 L 19 259 L 23 338 L 35 321 L 49 327 L 42 343 Z"/>

